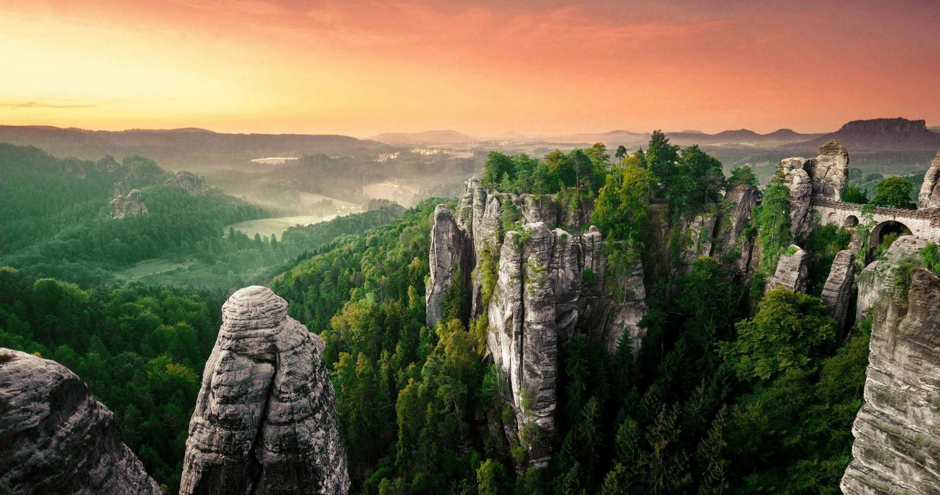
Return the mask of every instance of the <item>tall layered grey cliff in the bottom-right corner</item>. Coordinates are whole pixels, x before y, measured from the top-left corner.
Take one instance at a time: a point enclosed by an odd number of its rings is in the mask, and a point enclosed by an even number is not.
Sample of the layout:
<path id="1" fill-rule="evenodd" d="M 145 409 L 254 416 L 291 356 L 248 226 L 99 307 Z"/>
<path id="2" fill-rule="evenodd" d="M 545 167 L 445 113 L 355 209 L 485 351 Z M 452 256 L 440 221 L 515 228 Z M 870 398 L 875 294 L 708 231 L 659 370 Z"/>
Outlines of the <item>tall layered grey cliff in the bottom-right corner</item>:
<path id="1" fill-rule="evenodd" d="M 852 427 L 848 495 L 940 493 L 940 278 L 917 269 L 907 310 L 879 300 L 871 325 L 865 405 Z"/>

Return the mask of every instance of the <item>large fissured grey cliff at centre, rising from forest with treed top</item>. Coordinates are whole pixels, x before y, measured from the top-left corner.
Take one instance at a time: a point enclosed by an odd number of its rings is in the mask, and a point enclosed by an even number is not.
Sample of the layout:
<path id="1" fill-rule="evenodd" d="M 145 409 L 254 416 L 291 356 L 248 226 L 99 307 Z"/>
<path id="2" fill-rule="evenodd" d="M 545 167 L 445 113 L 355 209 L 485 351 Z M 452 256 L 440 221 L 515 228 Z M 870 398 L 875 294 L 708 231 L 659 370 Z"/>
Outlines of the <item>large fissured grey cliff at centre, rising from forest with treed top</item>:
<path id="1" fill-rule="evenodd" d="M 501 232 L 506 202 L 522 214 L 521 232 Z M 583 333 L 614 352 L 626 336 L 638 351 L 643 336 L 638 323 L 647 314 L 642 264 L 633 260 L 610 272 L 597 227 L 582 234 L 558 228 L 580 230 L 588 218 L 589 204 L 569 203 L 560 205 L 548 195 L 487 193 L 470 179 L 457 219 L 440 205 L 431 229 L 428 324 L 442 317 L 439 295 L 456 283 L 456 269 L 472 271 L 465 282 L 473 294 L 471 317 L 487 317 L 487 346 L 509 381 L 506 398 L 514 419 L 507 431 L 525 447 L 526 467 L 545 468 L 550 460 L 559 344 Z M 493 272 L 485 273 L 487 266 Z M 494 287 L 484 301 L 488 283 Z M 525 434 L 533 429 L 539 434 Z"/>

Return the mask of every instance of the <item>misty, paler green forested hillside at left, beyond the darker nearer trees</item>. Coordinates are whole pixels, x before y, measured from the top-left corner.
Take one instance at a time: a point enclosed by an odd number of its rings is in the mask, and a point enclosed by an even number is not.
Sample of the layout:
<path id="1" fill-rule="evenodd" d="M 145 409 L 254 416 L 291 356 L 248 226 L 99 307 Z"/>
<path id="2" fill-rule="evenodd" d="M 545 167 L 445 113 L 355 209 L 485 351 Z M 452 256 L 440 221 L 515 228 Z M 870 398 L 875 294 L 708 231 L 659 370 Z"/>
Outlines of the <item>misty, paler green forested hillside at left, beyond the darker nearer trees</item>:
<path id="1" fill-rule="evenodd" d="M 337 236 L 388 224 L 403 211 L 376 200 L 365 213 L 291 227 L 281 240 L 274 233 L 249 239 L 224 227 L 269 212 L 223 193 L 167 185 L 168 177 L 141 157 L 87 162 L 0 144 L 0 264 L 89 287 L 116 282 L 135 263 L 159 259 L 179 268 L 146 282 L 232 289 L 266 283 L 291 258 Z M 140 190 L 148 214 L 111 218 L 115 191 L 133 189 Z"/>

